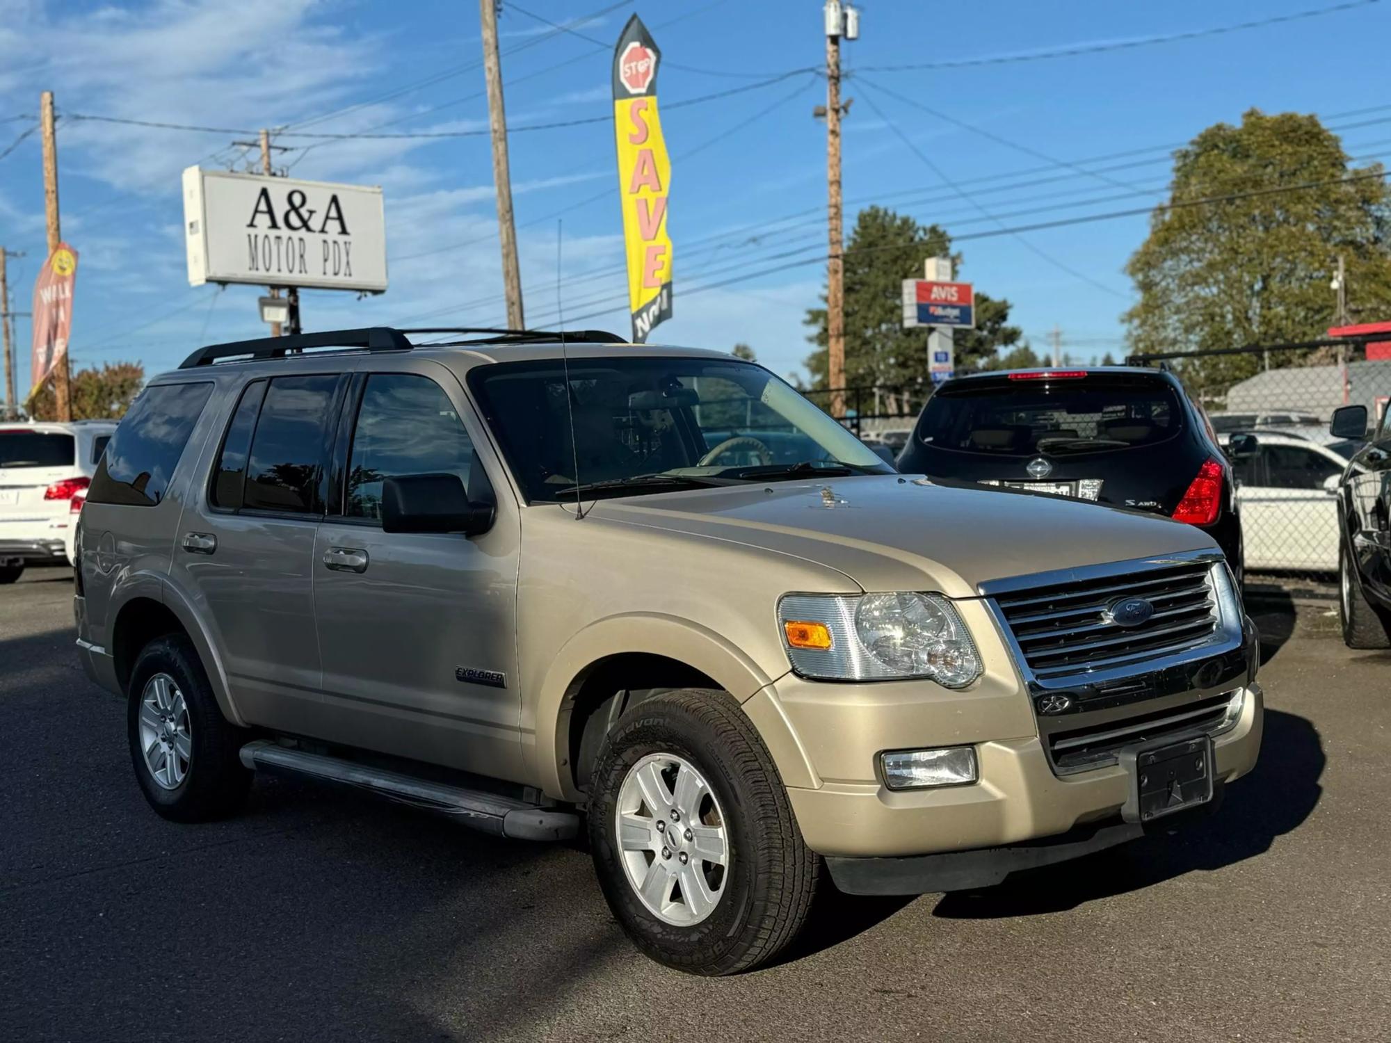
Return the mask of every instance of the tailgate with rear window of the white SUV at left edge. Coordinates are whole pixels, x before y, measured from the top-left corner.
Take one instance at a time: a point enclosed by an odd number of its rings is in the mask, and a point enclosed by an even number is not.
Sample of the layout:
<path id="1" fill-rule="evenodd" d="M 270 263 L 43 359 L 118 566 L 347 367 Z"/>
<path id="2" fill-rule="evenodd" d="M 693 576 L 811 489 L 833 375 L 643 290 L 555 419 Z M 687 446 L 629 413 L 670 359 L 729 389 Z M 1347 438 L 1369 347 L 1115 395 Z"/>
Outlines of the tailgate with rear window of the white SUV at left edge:
<path id="1" fill-rule="evenodd" d="M 63 541 L 68 502 L 49 485 L 78 474 L 77 438 L 67 431 L 0 427 L 0 552 L 7 542 Z"/>

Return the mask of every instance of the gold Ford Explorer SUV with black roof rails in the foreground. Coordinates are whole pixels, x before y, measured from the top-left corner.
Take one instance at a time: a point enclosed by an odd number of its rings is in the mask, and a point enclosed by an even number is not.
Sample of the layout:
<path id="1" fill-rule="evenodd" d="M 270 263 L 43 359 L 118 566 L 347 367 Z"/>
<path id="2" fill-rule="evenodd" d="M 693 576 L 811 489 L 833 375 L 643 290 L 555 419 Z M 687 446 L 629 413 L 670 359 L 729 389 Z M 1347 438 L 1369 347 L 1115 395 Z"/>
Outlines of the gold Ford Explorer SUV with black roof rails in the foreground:
<path id="1" fill-rule="evenodd" d="M 583 822 L 633 941 L 718 975 L 823 869 L 979 887 L 1255 763 L 1256 636 L 1198 528 L 897 474 L 716 352 L 406 332 L 202 349 L 107 448 L 78 645 L 160 815 L 274 770 Z"/>

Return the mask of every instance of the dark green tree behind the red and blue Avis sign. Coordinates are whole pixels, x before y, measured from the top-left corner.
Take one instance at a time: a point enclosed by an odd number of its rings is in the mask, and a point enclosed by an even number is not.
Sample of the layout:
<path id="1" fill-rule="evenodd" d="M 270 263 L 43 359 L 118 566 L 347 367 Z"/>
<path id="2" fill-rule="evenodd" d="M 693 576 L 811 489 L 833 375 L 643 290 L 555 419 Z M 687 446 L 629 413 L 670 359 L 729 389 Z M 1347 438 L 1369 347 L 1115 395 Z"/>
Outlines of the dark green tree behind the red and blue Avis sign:
<path id="1" fill-rule="evenodd" d="M 846 243 L 846 387 L 910 387 L 926 380 L 926 330 L 903 328 L 903 280 L 921 278 L 928 257 L 951 254 L 951 236 L 939 225 L 879 206 L 861 210 Z M 951 254 L 960 267 L 960 254 Z M 825 295 L 822 295 L 825 302 Z M 1020 341 L 1008 324 L 1010 302 L 975 295 L 975 330 L 957 330 L 956 366 L 981 369 L 1002 346 Z M 826 387 L 826 309 L 807 310 L 807 338 L 815 350 L 804 364 L 811 387 Z"/>

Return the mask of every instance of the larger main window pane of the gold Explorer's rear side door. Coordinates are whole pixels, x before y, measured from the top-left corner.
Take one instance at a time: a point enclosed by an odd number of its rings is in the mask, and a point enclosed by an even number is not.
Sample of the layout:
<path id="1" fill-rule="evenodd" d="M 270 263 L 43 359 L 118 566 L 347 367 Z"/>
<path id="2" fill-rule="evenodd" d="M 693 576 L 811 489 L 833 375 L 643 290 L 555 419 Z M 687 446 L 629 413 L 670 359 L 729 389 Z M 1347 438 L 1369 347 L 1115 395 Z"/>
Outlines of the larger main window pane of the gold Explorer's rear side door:
<path id="1" fill-rule="evenodd" d="M 324 427 L 332 410 L 337 375 L 278 377 L 266 403 L 250 460 L 242 506 L 312 513 L 324 458 Z"/>

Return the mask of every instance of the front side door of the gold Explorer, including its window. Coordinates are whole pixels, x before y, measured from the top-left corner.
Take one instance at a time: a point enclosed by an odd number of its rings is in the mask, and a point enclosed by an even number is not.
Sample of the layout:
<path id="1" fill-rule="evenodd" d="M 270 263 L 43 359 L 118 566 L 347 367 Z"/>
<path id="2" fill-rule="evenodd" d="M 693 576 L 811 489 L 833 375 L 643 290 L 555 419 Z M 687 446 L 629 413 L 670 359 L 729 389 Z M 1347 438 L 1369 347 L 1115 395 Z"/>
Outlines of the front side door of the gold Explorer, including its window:
<path id="1" fill-rule="evenodd" d="M 383 480 L 458 474 L 492 498 L 453 375 L 431 362 L 359 377 L 338 448 L 338 502 L 319 527 L 314 611 L 323 737 L 480 775 L 522 777 L 516 688 L 519 519 L 490 531 L 385 534 Z M 353 419 L 352 402 L 345 421 Z M 348 430 L 351 427 L 351 430 Z"/>

